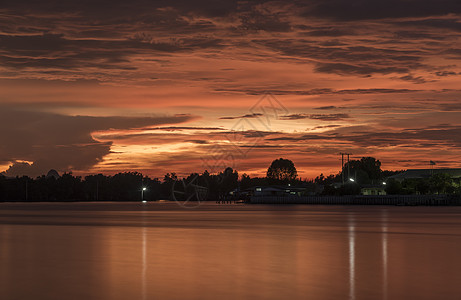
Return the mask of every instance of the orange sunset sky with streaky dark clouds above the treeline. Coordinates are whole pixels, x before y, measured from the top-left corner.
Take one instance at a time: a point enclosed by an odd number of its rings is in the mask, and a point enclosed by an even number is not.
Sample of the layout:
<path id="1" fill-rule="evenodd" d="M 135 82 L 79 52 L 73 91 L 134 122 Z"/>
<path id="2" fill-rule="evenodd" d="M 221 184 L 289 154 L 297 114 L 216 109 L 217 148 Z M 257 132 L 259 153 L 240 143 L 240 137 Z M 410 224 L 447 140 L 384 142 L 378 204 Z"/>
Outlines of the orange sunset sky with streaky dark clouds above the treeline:
<path id="1" fill-rule="evenodd" d="M 461 167 L 461 2 L 9 1 L 0 171 Z"/>

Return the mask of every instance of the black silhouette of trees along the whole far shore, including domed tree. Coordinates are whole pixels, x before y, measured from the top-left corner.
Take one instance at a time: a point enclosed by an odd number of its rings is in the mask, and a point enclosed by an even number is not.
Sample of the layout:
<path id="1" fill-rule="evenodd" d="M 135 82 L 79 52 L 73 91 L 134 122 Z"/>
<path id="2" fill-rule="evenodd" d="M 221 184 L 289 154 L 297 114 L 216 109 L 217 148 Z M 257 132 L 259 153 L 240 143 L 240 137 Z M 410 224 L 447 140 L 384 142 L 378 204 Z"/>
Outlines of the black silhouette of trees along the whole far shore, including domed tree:
<path id="1" fill-rule="evenodd" d="M 373 157 L 351 160 L 343 171 L 353 181 L 348 178 L 342 184 L 342 172 L 328 176 L 320 174 L 313 180 L 301 179 L 294 163 L 284 158 L 271 163 L 266 177 L 239 175 L 230 167 L 217 174 L 205 170 L 184 178 L 178 178 L 176 173 L 167 173 L 162 180 L 138 172 L 97 174 L 84 178 L 72 173 L 56 176 L 51 172 L 35 179 L 27 176 L 8 178 L 0 174 L 0 201 L 141 201 L 141 197 L 147 201 L 174 200 L 173 189 L 178 180 L 186 186 L 191 182 L 201 185 L 206 189 L 205 200 L 245 199 L 254 187 L 287 184 L 302 188 L 303 195 L 357 195 L 361 186 L 383 184 L 387 177 L 403 172 L 383 171 L 381 162 Z M 387 194 L 461 194 L 459 179 L 444 173 L 401 182 L 388 180 L 386 183 Z"/>

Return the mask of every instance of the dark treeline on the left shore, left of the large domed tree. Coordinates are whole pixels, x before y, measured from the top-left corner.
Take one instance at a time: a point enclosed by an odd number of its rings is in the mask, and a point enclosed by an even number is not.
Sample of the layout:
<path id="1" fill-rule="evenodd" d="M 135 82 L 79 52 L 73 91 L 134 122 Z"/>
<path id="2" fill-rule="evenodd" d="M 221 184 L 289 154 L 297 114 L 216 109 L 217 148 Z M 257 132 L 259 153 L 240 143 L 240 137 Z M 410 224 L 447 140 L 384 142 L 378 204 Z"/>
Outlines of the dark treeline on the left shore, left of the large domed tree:
<path id="1" fill-rule="evenodd" d="M 301 180 L 293 184 L 309 184 Z M 228 197 L 234 190 L 243 191 L 253 186 L 274 183 L 267 178 L 251 178 L 227 168 L 219 174 L 207 171 L 191 173 L 178 178 L 175 173 L 166 174 L 162 180 L 149 178 L 138 172 L 116 175 L 89 175 L 85 177 L 64 173 L 62 176 L 40 176 L 35 179 L 23 176 L 7 178 L 0 175 L 0 201 L 155 201 L 174 200 L 174 191 L 184 191 L 184 186 L 200 186 L 207 190 L 206 200 Z M 143 190 L 145 189 L 145 190 Z M 178 197 L 178 195 L 176 195 Z"/>

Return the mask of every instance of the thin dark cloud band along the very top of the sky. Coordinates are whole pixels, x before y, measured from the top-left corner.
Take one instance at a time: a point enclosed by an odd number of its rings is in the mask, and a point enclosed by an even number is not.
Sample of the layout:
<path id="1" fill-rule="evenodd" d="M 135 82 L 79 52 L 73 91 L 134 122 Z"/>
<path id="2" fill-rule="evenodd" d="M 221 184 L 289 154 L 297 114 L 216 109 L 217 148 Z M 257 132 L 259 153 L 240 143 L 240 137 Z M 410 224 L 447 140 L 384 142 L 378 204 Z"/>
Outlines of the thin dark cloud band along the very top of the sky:
<path id="1" fill-rule="evenodd" d="M 2 4 L 10 10 L 24 12 L 75 12 L 89 19 L 103 15 L 112 19 L 129 18 L 133 15 L 147 14 L 152 10 L 171 7 L 181 13 L 193 13 L 208 17 L 225 17 L 235 12 L 251 12 L 259 4 L 286 5 L 284 1 L 236 1 L 236 0 L 81 0 L 81 1 L 33 1 L 16 0 Z M 292 6 L 302 15 L 314 18 L 330 18 L 343 21 L 427 17 L 460 13 L 461 4 L 457 0 L 295 0 Z M 108 17 L 109 18 L 109 17 Z"/>

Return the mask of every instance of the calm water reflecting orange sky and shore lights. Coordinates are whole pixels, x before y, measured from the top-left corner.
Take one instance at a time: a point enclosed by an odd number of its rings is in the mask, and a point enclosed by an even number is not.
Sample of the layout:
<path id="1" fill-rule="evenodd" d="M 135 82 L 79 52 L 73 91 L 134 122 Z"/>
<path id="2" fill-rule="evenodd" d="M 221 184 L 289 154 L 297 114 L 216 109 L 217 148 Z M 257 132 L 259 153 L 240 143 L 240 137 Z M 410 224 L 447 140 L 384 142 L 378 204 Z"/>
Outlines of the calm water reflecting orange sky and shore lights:
<path id="1" fill-rule="evenodd" d="M 0 203 L 0 299 L 460 299 L 461 208 Z"/>

